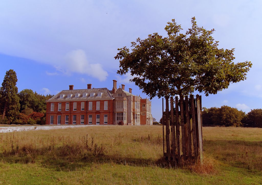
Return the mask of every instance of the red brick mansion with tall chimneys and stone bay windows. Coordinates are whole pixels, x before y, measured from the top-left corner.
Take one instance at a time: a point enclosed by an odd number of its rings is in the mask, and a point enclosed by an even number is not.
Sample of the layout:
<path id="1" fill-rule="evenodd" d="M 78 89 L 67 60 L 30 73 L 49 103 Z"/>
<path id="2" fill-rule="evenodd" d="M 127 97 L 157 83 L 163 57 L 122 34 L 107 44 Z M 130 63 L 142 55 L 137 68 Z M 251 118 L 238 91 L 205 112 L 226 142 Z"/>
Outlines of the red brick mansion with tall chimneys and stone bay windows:
<path id="1" fill-rule="evenodd" d="M 46 101 L 46 125 L 48 124 L 93 124 L 152 125 L 151 101 L 125 91 L 125 85 L 117 89 L 91 88 L 62 90 Z"/>

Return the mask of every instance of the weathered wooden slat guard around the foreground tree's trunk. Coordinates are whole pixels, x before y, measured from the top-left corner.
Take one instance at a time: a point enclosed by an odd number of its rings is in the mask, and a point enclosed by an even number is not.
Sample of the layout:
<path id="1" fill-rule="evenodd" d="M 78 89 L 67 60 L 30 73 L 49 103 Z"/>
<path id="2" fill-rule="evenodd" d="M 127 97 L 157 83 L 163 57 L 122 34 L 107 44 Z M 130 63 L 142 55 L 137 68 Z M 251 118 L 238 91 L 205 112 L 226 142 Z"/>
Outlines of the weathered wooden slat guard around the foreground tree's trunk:
<path id="1" fill-rule="evenodd" d="M 178 96 L 175 97 L 175 100 L 173 100 L 173 97 L 170 97 L 170 111 L 169 97 L 165 97 L 165 99 L 166 111 L 164 112 L 163 110 L 162 119 L 165 119 L 166 124 L 166 152 L 163 142 L 164 157 L 168 161 L 173 161 L 178 165 L 191 164 L 198 160 L 202 163 L 203 136 L 201 96 L 196 95 L 195 99 L 194 95 L 190 95 L 190 98 L 185 96 L 184 99 L 179 101 Z M 180 127 L 182 138 L 180 138 Z M 182 142 L 180 142 L 180 139 Z M 182 153 L 180 151 L 181 148 Z"/>

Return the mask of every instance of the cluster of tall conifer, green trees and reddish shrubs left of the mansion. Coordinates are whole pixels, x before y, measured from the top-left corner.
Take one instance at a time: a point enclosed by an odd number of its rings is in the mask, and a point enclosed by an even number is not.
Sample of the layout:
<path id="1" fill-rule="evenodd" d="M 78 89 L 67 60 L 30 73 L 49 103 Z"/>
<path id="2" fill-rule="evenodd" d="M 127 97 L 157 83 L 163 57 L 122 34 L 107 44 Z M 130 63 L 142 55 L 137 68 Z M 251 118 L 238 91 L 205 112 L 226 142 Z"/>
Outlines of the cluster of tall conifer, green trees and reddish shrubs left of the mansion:
<path id="1" fill-rule="evenodd" d="M 18 93 L 17 74 L 6 72 L 0 87 L 0 124 L 45 124 L 46 100 L 54 95 L 41 95 L 31 89 Z"/>

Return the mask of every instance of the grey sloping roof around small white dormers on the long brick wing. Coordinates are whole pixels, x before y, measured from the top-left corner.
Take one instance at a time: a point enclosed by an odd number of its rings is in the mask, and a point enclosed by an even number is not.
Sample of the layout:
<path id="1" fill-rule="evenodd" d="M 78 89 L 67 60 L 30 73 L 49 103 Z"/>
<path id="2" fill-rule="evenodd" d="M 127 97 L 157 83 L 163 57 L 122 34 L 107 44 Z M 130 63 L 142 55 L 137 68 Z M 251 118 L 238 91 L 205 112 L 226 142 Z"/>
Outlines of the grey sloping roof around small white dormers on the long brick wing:
<path id="1" fill-rule="evenodd" d="M 99 92 L 102 92 L 102 96 L 97 96 Z M 78 97 L 75 94 L 80 93 Z M 87 93 L 86 97 L 83 97 L 83 93 Z M 93 97 L 90 96 L 91 93 L 95 93 Z M 61 94 L 65 94 L 63 98 L 60 98 Z M 68 94 L 73 94 L 72 97 L 67 97 Z M 113 100 L 112 94 L 107 88 L 97 88 L 97 89 L 75 89 L 75 90 L 62 90 L 58 94 L 54 95 L 52 98 L 46 102 L 56 102 L 56 101 L 87 101 L 87 100 Z"/>

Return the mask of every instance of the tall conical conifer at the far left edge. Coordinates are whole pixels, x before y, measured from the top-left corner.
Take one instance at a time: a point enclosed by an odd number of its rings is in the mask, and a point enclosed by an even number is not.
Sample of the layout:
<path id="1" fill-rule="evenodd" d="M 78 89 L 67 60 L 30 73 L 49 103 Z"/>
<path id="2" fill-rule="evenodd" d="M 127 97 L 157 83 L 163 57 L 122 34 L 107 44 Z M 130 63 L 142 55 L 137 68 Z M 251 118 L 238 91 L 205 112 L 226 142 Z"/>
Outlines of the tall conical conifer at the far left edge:
<path id="1" fill-rule="evenodd" d="M 20 104 L 19 97 L 17 95 L 18 88 L 16 86 L 17 75 L 14 70 L 6 72 L 2 87 L 0 88 L 1 107 L 3 110 L 2 120 L 6 116 L 9 123 L 19 114 Z"/>

